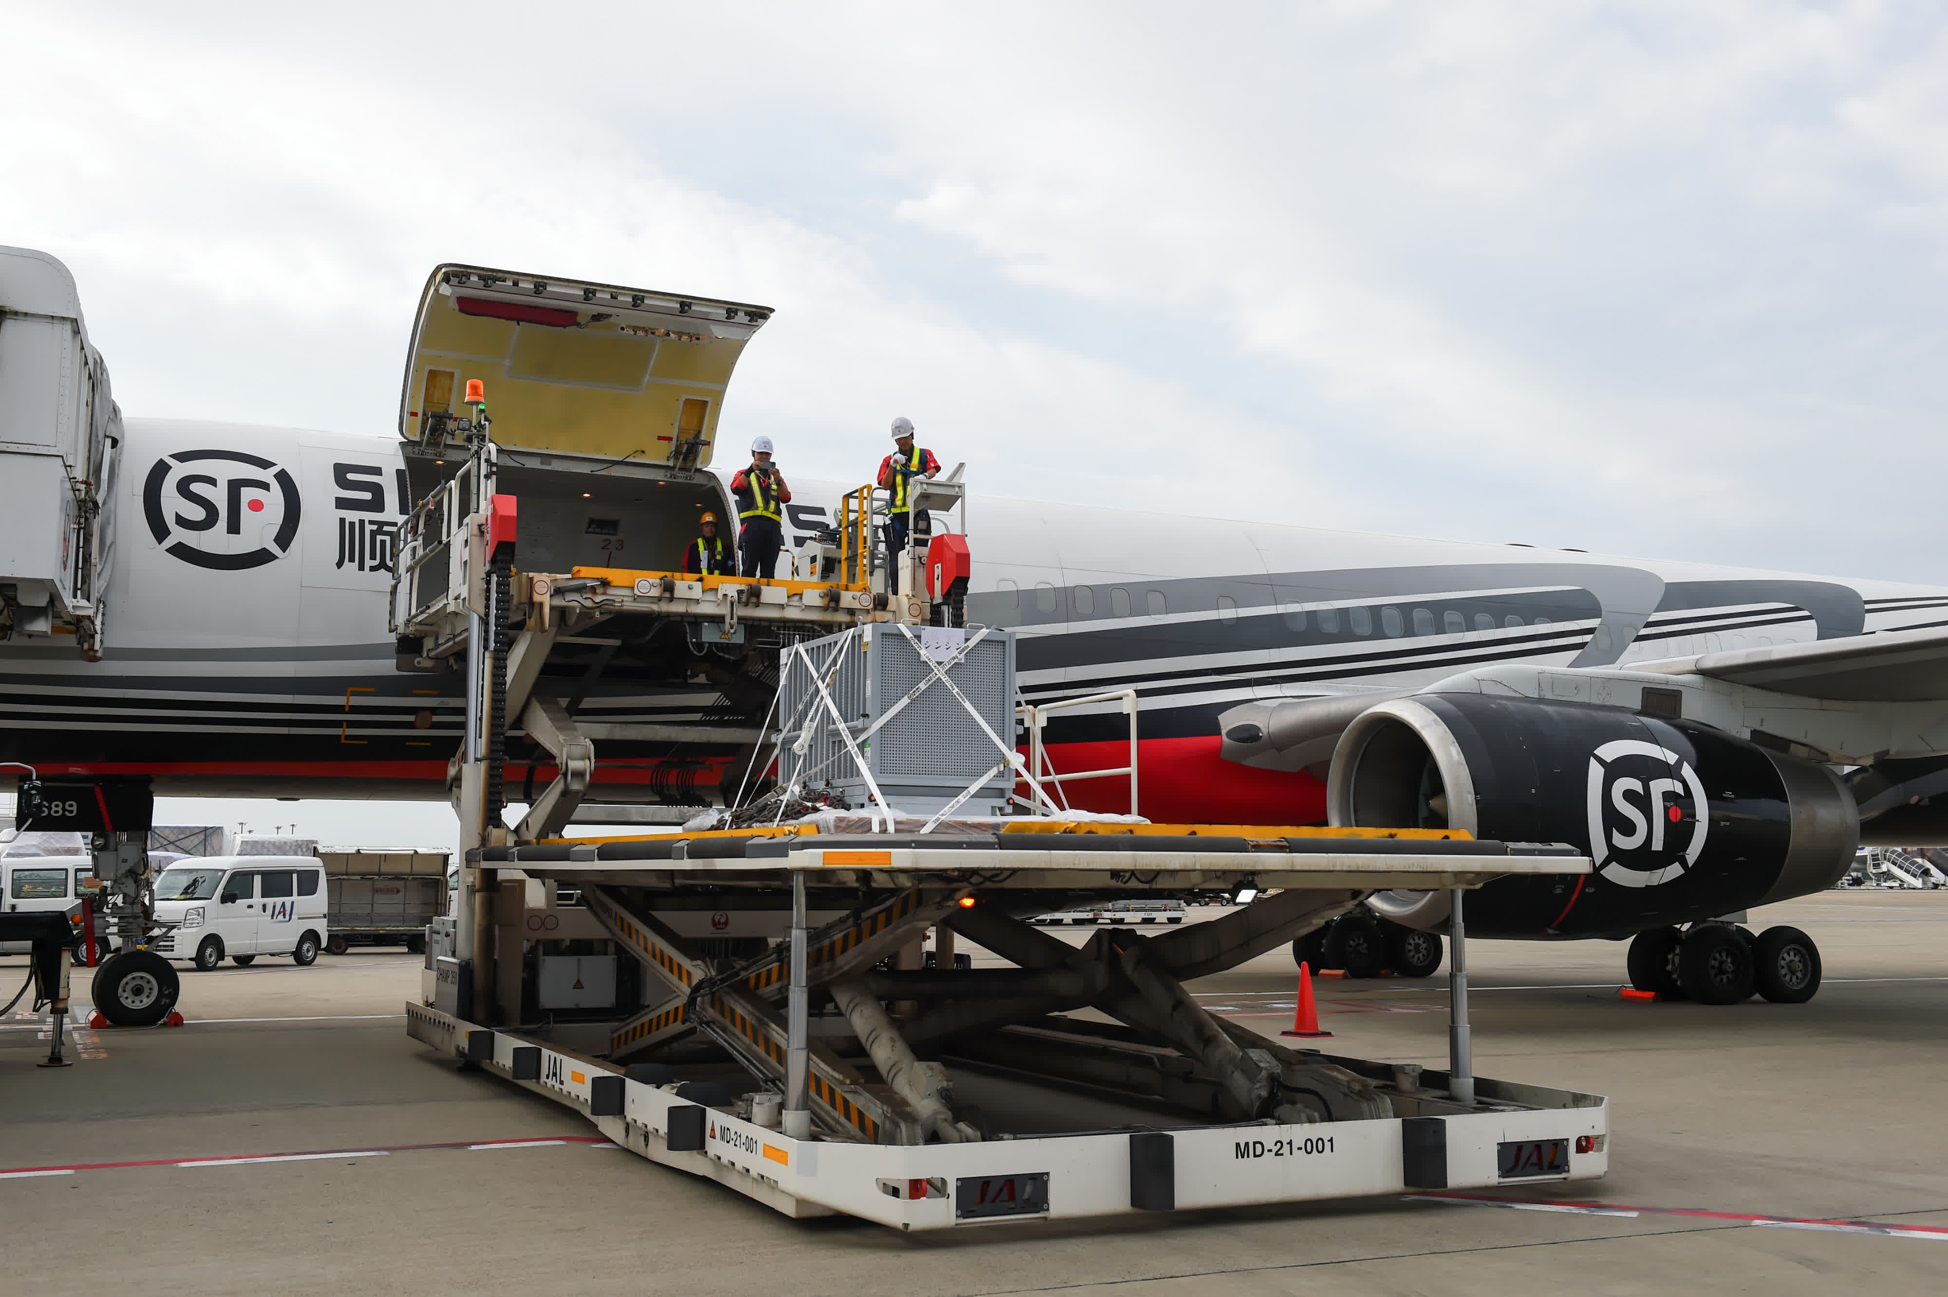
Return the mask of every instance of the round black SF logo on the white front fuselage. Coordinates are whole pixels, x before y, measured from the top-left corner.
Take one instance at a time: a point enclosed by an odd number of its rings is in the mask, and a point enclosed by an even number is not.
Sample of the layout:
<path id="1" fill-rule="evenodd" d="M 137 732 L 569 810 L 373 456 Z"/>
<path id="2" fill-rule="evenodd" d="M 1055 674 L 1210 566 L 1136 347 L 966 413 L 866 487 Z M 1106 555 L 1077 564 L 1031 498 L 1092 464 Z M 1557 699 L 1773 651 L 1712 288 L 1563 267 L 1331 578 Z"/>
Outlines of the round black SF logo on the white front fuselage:
<path id="1" fill-rule="evenodd" d="M 292 475 L 242 450 L 179 450 L 142 483 L 142 514 L 166 553 L 236 573 L 275 563 L 298 539 Z"/>

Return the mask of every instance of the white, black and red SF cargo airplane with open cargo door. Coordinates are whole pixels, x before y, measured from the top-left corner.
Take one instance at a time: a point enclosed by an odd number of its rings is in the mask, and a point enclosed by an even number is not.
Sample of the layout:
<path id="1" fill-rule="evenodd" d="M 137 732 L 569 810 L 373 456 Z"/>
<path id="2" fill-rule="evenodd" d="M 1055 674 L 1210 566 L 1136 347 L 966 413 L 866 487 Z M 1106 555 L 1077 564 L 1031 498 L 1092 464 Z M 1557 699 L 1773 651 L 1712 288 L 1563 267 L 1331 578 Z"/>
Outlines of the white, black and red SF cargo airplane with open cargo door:
<path id="1" fill-rule="evenodd" d="M 33 314 L 80 335 L 64 271 L 29 282 L 16 265 L 0 292 L 8 329 Z M 699 510 L 736 512 L 709 448 L 768 314 L 448 265 L 419 306 L 395 434 L 115 415 L 90 475 L 99 660 L 25 578 L 0 584 L 0 760 L 173 795 L 446 798 L 464 680 L 399 656 L 388 590 L 401 520 L 452 471 L 458 388 L 497 395 L 524 569 L 672 569 Z M 565 450 L 575 421 L 606 428 L 598 458 Z M 783 469 L 795 547 L 857 481 Z M 960 512 L 966 619 L 1019 635 L 1025 701 L 1136 691 L 1142 814 L 1592 855 L 1588 878 L 1490 884 L 1473 933 L 1634 937 L 1640 985 L 1806 999 L 1814 943 L 1753 939 L 1736 915 L 1835 884 L 1858 843 L 1948 843 L 1948 588 L 986 495 Z M 598 746 L 592 800 L 723 800 L 754 750 L 734 732 L 768 701 L 734 652 L 682 635 L 581 648 L 543 686 Z M 1122 765 L 1128 719 L 1060 711 L 1046 742 L 1060 771 Z M 538 771 L 516 744 L 510 783 Z M 1068 789 L 1130 808 L 1124 779 Z M 1325 941 L 1346 964 L 1424 970 L 1447 917 L 1445 896 L 1381 894 Z"/>

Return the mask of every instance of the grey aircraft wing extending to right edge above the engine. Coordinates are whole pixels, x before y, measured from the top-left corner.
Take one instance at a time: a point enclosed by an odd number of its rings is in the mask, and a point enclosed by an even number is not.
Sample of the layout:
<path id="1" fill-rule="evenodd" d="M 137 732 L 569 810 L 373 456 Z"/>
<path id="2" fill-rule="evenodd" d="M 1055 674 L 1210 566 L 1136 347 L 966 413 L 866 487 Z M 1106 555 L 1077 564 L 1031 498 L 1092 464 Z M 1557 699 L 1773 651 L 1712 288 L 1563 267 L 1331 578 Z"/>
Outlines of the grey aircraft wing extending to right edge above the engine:
<path id="1" fill-rule="evenodd" d="M 1921 703 L 1948 699 L 1948 627 L 1704 652 L 1632 662 L 1627 670 L 1708 676 L 1755 689 L 1833 701 Z"/>

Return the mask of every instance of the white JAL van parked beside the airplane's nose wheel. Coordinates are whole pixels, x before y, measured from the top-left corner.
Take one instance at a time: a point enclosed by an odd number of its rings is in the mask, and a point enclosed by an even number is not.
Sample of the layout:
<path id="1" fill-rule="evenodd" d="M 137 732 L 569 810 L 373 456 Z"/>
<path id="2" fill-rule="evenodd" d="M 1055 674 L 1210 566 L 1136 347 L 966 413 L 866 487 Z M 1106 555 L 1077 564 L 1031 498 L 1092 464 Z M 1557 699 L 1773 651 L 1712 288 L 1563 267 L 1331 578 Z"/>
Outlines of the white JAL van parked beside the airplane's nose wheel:
<path id="1" fill-rule="evenodd" d="M 156 954 L 210 972 L 228 954 L 249 964 L 288 954 L 310 964 L 325 941 L 325 863 L 316 855 L 212 855 L 156 878 L 156 921 L 175 923 Z"/>

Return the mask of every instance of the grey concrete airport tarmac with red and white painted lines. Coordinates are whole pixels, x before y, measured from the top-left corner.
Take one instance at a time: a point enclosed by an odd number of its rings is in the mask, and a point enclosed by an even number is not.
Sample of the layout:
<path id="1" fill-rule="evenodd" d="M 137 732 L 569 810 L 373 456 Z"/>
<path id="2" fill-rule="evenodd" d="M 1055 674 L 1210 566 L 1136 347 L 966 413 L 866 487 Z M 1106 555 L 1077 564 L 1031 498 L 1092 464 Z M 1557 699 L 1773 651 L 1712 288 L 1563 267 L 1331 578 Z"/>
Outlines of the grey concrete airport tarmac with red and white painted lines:
<path id="1" fill-rule="evenodd" d="M 33 1067 L 45 1019 L 0 1020 L 0 1266 L 16 1291 L 210 1295 L 1948 1285 L 1948 894 L 1827 892 L 1751 917 L 1816 937 L 1810 1005 L 1632 1003 L 1621 945 L 1469 943 L 1477 1071 L 1607 1094 L 1609 1176 L 1555 1188 L 1634 1215 L 1377 1198 L 931 1235 L 795 1223 L 456 1071 L 405 1036 L 419 958 L 355 950 L 183 966 L 187 1026 L 80 1030 L 62 1071 Z M 0 960 L 0 999 L 23 976 Z M 1192 989 L 1276 1036 L 1293 976 L 1280 950 Z M 1443 1065 L 1445 974 L 1317 995 L 1332 1052 Z M 1547 1205 L 1551 1188 L 1502 1198 Z"/>

